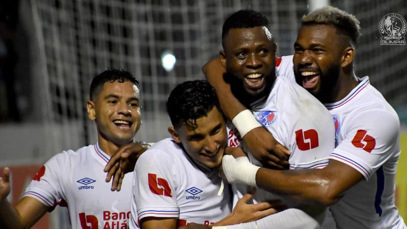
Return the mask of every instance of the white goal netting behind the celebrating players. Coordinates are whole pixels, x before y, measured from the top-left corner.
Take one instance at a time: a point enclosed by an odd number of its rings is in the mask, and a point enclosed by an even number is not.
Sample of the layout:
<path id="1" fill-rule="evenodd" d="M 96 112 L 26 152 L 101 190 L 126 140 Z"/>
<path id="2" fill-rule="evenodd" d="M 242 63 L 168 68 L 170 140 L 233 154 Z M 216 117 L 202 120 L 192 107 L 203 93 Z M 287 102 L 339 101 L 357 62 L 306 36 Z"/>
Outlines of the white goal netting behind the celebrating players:
<path id="1" fill-rule="evenodd" d="M 124 68 L 141 82 L 143 125 L 138 137 L 155 141 L 168 136 L 165 102 L 179 82 L 203 78 L 200 68 L 221 48 L 223 20 L 244 8 L 264 12 L 271 22 L 280 55 L 290 54 L 307 1 L 111 1 L 32 0 L 43 60 L 46 122 L 69 126 L 62 139 L 78 138 L 78 147 L 96 139 L 85 115 L 92 77 L 107 67 Z M 331 1 L 355 14 L 362 25 L 356 71 L 396 107 L 405 105 L 406 46 L 380 45 L 379 22 L 387 13 L 406 16 L 404 1 Z M 161 54 L 171 51 L 175 69 L 166 72 Z M 401 115 L 403 115 L 401 113 Z M 403 118 L 403 117 L 401 117 Z M 79 133 L 79 134 L 78 134 Z M 57 151 L 56 151 L 57 152 Z"/>

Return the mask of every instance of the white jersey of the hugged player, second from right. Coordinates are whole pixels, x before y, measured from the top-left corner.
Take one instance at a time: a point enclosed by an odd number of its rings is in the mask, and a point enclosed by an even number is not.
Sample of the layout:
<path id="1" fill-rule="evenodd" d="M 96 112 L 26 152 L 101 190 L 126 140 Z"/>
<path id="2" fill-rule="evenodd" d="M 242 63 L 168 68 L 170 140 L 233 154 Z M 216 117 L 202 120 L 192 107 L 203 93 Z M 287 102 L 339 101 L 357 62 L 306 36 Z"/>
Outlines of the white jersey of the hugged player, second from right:
<path id="1" fill-rule="evenodd" d="M 333 119 L 324 105 L 296 82 L 276 77 L 269 96 L 253 103 L 251 110 L 257 121 L 291 152 L 288 160 L 290 169 L 323 168 L 328 165 L 329 155 L 335 147 Z M 236 133 L 236 129 L 230 128 L 229 124 L 229 146 L 239 144 L 240 136 L 236 136 Z M 253 164 L 261 166 L 251 154 L 248 156 Z M 233 187 L 237 187 L 236 204 L 249 187 L 242 184 Z M 276 198 L 281 197 L 260 189 L 253 203 Z M 296 206 L 295 203 L 285 204 Z M 318 221 L 323 221 L 323 218 L 321 216 Z"/>

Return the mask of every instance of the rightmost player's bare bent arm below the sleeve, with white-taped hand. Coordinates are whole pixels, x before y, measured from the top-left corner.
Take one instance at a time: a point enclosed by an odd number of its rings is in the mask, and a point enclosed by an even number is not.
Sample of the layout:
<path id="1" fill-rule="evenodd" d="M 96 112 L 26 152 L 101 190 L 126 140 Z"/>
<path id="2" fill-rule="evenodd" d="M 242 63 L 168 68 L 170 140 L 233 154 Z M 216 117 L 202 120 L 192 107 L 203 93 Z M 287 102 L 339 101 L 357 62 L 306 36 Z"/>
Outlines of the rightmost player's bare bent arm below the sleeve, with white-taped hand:
<path id="1" fill-rule="evenodd" d="M 225 155 L 222 168 L 230 183 L 255 184 L 270 192 L 287 195 L 303 204 L 323 206 L 338 202 L 344 191 L 363 179 L 359 171 L 333 159 L 321 169 L 282 171 L 255 166 L 247 157 L 239 157 L 237 160 L 232 155 Z"/>

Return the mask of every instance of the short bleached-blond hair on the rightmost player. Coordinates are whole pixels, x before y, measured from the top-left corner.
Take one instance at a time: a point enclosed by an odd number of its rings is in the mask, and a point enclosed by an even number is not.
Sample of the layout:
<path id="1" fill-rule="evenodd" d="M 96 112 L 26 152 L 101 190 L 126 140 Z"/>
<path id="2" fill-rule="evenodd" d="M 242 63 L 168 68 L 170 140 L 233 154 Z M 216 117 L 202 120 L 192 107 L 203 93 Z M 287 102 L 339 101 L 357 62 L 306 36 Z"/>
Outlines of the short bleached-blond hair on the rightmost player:
<path id="1" fill-rule="evenodd" d="M 356 45 L 362 35 L 359 20 L 354 15 L 332 6 L 315 10 L 305 15 L 301 20 L 301 25 L 315 24 L 335 26 L 340 33 L 352 40 L 353 45 Z"/>

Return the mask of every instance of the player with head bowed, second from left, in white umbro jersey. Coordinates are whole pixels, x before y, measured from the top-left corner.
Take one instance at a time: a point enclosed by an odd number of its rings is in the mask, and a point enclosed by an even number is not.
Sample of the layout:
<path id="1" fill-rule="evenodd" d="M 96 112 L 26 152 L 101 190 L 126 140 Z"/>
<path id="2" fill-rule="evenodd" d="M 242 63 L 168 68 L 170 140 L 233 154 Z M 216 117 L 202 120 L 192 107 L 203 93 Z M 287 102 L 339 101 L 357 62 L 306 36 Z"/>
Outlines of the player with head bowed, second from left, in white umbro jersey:
<path id="1" fill-rule="evenodd" d="M 138 220 L 144 229 L 209 225 L 231 211 L 230 187 L 219 177 L 227 135 L 215 90 L 204 80 L 183 82 L 172 90 L 167 111 L 171 138 L 156 142 L 135 166 L 130 228 Z M 249 206 L 265 210 L 259 217 L 274 213 L 270 207 Z M 235 213 L 222 222 L 241 222 Z"/>

